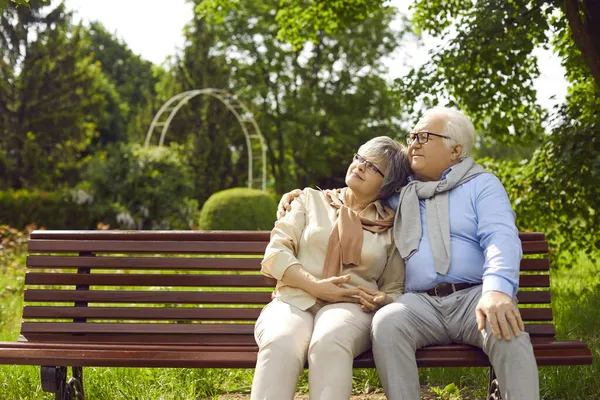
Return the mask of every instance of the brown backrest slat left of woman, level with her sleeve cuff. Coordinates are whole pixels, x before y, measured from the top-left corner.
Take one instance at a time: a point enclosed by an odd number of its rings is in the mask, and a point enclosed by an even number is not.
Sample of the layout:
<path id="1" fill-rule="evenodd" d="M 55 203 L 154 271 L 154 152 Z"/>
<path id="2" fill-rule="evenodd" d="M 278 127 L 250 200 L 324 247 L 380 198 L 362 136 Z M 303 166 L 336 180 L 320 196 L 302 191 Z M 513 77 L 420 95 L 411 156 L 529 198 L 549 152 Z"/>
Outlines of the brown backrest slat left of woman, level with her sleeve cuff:
<path id="1" fill-rule="evenodd" d="M 28 285 L 89 286 L 197 286 L 197 287 L 274 287 L 277 281 L 262 275 L 189 274 L 59 274 L 27 273 Z"/>

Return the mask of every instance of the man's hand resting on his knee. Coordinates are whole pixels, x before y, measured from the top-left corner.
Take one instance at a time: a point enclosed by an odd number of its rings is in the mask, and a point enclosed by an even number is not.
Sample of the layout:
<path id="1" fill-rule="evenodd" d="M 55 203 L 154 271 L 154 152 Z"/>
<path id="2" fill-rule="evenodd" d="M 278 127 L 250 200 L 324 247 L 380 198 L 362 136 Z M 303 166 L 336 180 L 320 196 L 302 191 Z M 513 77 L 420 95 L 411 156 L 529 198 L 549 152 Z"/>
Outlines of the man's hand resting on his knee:
<path id="1" fill-rule="evenodd" d="M 511 297 L 503 292 L 489 291 L 481 295 L 477 308 L 477 329 L 485 329 L 486 319 L 492 327 L 492 333 L 497 339 L 510 340 L 510 329 L 519 336 L 525 329 L 519 309 L 515 307 Z M 510 328 L 509 328 L 510 326 Z"/>

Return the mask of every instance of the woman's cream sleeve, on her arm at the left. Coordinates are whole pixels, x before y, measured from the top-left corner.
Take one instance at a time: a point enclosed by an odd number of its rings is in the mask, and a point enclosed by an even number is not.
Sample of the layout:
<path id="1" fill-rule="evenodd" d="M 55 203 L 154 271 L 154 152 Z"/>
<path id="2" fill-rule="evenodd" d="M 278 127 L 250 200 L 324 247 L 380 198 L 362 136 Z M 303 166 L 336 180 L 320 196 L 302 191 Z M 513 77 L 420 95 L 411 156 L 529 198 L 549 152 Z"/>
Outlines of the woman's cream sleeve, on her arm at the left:
<path id="1" fill-rule="evenodd" d="M 306 195 L 302 193 L 291 203 L 288 211 L 271 231 L 271 240 L 265 250 L 260 272 L 263 275 L 281 281 L 285 271 L 294 264 L 300 264 L 296 258 L 298 244 L 306 226 Z"/>

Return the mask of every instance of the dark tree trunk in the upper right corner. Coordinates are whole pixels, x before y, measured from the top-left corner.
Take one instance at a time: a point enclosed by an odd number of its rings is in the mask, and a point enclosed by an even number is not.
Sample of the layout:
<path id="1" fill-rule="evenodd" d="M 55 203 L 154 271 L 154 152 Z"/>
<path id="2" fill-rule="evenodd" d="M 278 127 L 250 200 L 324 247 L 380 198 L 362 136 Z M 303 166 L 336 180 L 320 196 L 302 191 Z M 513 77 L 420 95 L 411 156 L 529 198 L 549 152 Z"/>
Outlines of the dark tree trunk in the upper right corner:
<path id="1" fill-rule="evenodd" d="M 600 92 L 600 2 L 566 0 L 565 14 L 573 41 L 581 51 Z"/>

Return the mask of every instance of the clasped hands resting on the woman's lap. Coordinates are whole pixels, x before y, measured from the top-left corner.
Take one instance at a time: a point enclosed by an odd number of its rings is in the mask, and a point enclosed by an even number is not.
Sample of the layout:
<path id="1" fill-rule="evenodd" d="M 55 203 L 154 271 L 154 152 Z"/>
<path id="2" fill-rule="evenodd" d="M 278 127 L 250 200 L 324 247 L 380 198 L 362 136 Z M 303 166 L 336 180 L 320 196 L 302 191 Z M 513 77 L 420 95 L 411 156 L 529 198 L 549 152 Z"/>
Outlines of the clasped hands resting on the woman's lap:
<path id="1" fill-rule="evenodd" d="M 362 286 L 349 289 L 343 285 L 350 275 L 332 276 L 315 282 L 313 296 L 329 303 L 358 303 L 364 312 L 374 312 L 387 304 L 384 292 L 369 290 Z"/>

